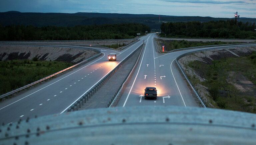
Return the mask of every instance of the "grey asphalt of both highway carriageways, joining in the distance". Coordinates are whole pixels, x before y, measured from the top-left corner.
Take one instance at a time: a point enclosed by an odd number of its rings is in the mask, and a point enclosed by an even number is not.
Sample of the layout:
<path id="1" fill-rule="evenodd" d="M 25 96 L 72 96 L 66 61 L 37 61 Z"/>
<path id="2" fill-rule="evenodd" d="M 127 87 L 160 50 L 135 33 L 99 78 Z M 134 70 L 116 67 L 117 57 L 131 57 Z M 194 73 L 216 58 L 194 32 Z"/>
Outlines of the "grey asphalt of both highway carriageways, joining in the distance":
<path id="1" fill-rule="evenodd" d="M 175 59 L 186 52 L 214 47 L 160 54 L 156 51 L 154 37 L 154 33 L 143 36 L 140 41 L 120 52 L 99 48 L 103 53 L 99 58 L 1 102 L 0 122 L 10 123 L 35 115 L 44 116 L 65 111 L 143 41 L 145 47 L 142 56 L 117 106 L 199 106 L 197 98 L 190 92 L 180 74 Z M 109 62 L 108 53 L 117 53 L 117 61 Z M 157 100 L 144 99 L 144 89 L 147 86 L 157 88 Z"/>

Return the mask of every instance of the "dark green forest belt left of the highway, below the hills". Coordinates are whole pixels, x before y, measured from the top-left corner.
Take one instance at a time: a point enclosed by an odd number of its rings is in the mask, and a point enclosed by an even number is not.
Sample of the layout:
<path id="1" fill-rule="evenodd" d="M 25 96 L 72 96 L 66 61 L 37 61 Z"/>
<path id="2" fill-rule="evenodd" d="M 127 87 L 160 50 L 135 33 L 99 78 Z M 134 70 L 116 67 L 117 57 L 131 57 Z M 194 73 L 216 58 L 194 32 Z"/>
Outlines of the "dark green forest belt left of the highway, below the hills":
<path id="1" fill-rule="evenodd" d="M 143 24 L 61 26 L 0 25 L 0 41 L 128 39 L 150 32 Z"/>

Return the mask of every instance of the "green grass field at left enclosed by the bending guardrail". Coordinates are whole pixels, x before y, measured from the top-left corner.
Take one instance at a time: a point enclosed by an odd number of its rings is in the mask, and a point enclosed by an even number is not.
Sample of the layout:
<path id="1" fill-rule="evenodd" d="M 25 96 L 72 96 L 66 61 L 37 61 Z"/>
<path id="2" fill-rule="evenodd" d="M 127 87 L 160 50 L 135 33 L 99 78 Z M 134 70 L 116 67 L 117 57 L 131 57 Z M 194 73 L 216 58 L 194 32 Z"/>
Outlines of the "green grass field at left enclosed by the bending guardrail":
<path id="1" fill-rule="evenodd" d="M 72 66 L 59 61 L 0 61 L 0 94 L 5 94 Z"/>

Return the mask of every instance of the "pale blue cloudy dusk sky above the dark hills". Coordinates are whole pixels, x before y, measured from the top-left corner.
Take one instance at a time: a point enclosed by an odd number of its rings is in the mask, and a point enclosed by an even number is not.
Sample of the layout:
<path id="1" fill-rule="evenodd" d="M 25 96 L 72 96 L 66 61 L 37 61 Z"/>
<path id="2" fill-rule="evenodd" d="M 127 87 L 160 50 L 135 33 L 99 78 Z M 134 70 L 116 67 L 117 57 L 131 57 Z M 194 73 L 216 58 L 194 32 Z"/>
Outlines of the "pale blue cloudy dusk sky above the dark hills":
<path id="1" fill-rule="evenodd" d="M 0 12 L 129 13 L 256 18 L 256 0 L 0 0 Z"/>

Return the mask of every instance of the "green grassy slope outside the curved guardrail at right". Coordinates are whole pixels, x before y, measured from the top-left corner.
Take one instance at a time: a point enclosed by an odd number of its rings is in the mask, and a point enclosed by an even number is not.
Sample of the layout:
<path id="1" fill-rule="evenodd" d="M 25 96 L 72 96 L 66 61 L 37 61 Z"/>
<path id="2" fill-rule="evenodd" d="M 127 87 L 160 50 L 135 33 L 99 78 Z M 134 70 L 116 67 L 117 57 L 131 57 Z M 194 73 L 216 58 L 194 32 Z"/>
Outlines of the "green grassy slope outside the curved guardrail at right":
<path id="1" fill-rule="evenodd" d="M 256 52 L 244 57 L 230 57 L 214 60 L 211 64 L 193 61 L 188 64 L 206 81 L 200 82 L 193 76 L 193 84 L 202 84 L 208 87 L 211 102 L 216 108 L 256 113 L 255 94 L 240 92 L 233 84 L 228 83 L 229 72 L 241 73 L 248 80 L 256 84 Z M 254 90 L 255 91 L 255 90 Z M 245 100 L 247 102 L 245 102 Z"/>

